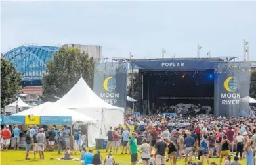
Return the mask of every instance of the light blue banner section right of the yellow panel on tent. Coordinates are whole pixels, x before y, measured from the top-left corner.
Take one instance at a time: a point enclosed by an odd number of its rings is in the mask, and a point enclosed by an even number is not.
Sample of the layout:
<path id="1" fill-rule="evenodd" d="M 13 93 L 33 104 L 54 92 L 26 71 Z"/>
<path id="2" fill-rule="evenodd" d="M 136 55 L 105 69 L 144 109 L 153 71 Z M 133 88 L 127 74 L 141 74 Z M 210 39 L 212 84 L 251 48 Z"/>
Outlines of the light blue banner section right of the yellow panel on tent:
<path id="1" fill-rule="evenodd" d="M 42 125 L 72 125 L 71 117 L 41 117 Z"/>

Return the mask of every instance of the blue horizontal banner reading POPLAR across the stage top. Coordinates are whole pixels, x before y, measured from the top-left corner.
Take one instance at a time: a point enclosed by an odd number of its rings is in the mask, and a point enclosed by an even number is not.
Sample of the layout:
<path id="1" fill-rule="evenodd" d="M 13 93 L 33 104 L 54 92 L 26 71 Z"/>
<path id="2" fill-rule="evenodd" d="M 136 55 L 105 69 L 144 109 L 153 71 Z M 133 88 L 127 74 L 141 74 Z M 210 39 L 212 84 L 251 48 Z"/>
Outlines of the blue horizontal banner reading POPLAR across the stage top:
<path id="1" fill-rule="evenodd" d="M 189 70 L 189 69 L 214 69 L 214 62 L 219 59 L 159 59 L 159 60 L 131 60 L 131 63 L 139 69 L 174 69 L 174 70 Z M 137 66 L 136 66 L 137 65 Z"/>

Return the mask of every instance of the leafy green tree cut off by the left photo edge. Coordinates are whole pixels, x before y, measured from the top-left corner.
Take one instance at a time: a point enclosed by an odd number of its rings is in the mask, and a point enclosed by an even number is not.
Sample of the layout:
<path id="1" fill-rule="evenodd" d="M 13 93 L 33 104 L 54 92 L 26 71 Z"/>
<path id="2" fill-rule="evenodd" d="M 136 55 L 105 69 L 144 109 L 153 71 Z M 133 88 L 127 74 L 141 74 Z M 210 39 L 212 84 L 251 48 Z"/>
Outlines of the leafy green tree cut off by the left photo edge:
<path id="1" fill-rule="evenodd" d="M 16 71 L 12 63 L 1 57 L 1 108 L 15 100 L 16 94 L 21 92 L 22 76 Z"/>

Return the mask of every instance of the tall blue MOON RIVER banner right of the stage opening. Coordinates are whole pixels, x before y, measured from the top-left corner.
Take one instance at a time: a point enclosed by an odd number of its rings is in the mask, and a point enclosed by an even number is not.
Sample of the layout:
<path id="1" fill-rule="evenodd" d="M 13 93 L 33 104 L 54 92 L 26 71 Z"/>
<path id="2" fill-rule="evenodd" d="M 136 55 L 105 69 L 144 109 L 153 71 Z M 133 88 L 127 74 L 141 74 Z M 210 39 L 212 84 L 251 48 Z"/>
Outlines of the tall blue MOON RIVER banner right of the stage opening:
<path id="1" fill-rule="evenodd" d="M 251 63 L 215 63 L 214 72 L 215 116 L 249 115 Z"/>

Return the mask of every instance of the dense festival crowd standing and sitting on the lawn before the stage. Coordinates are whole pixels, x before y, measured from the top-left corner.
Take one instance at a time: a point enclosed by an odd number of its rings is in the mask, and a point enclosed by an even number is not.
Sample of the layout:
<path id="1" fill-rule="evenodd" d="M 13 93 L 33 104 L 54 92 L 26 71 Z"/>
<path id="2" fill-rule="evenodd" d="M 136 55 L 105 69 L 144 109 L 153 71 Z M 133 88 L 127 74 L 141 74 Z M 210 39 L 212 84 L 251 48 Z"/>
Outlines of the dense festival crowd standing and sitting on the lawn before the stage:
<path id="1" fill-rule="evenodd" d="M 100 150 L 93 154 L 93 150 L 86 147 L 86 135 L 83 135 L 81 127 L 73 133 L 77 144 L 74 154 L 80 152 L 80 158 L 74 158 L 71 148 L 66 147 L 65 142 L 65 138 L 70 135 L 68 127 L 57 130 L 55 126 L 39 128 L 33 125 L 25 135 L 26 159 L 30 159 L 30 152 L 33 152 L 34 158 L 39 152 L 39 157 L 44 159 L 44 151 L 47 149 L 58 150 L 59 154 L 64 150 L 64 156 L 60 159 L 80 160 L 84 165 L 118 164 L 114 160 L 116 154 L 131 154 L 131 165 L 163 165 L 167 162 L 176 165 L 177 160 L 182 158 L 185 158 L 185 164 L 190 165 L 205 164 L 205 160 L 208 165 L 216 164 L 210 162 L 209 158 L 219 158 L 219 165 L 238 165 L 242 159 L 246 160 L 247 165 L 255 164 L 255 119 L 215 118 L 207 115 L 171 117 L 157 114 L 128 115 L 124 123 L 126 127 L 110 127 L 106 158 L 102 158 Z M 2 150 L 8 150 L 12 134 L 15 139 L 14 149 L 19 149 L 20 129 L 14 125 L 11 131 L 9 125 L 5 125 L 5 129 L 1 130 Z"/>

